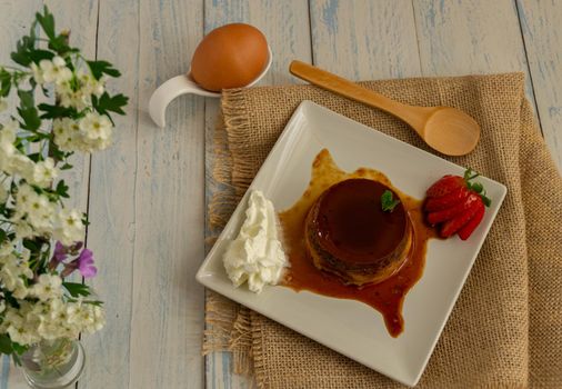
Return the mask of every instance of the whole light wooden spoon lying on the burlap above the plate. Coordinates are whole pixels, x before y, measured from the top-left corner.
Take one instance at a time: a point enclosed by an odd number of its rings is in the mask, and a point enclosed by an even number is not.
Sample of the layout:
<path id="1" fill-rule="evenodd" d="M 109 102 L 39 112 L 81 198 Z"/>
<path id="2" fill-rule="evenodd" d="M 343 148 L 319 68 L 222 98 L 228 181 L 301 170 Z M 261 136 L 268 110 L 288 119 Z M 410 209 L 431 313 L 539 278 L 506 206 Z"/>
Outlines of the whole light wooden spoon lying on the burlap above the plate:
<path id="1" fill-rule="evenodd" d="M 292 61 L 289 71 L 315 86 L 393 114 L 444 154 L 468 154 L 480 139 L 480 126 L 456 108 L 407 106 L 301 61 Z"/>

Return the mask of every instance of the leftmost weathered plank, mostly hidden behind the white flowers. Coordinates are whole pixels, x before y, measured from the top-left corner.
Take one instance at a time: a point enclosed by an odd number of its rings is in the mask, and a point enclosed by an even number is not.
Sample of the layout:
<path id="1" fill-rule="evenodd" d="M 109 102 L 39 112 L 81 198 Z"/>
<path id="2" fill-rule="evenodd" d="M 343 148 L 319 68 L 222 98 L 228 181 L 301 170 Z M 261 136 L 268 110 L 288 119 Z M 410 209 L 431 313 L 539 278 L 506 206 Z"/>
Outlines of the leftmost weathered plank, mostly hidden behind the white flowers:
<path id="1" fill-rule="evenodd" d="M 71 42 L 82 49 L 86 57 L 96 56 L 96 30 L 98 20 L 98 1 L 63 0 L 46 1 L 54 14 L 58 29 L 70 29 Z M 41 1 L 8 1 L 0 4 L 0 47 L 10 48 L 0 52 L 0 63 L 8 63 L 9 52 L 16 47 L 16 40 L 27 33 L 34 12 L 42 8 Z M 61 173 L 69 184 L 71 198 L 66 201 L 68 207 L 77 207 L 86 211 L 88 205 L 89 156 L 74 156 L 71 163 L 74 168 Z M 10 366 L 6 358 L 2 362 L 0 388 L 28 388 L 21 369 Z M 6 379 L 9 376 L 9 380 Z"/>

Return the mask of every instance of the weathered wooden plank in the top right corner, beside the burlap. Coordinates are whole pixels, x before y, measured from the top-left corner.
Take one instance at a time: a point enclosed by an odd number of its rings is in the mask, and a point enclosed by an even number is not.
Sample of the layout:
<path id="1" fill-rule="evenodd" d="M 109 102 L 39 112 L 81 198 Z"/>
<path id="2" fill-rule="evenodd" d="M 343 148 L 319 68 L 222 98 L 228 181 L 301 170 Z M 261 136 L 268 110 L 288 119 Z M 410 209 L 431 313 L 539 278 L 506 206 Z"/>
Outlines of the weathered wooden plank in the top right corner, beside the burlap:
<path id="1" fill-rule="evenodd" d="M 562 170 L 562 3 L 518 0 L 544 140 Z"/>

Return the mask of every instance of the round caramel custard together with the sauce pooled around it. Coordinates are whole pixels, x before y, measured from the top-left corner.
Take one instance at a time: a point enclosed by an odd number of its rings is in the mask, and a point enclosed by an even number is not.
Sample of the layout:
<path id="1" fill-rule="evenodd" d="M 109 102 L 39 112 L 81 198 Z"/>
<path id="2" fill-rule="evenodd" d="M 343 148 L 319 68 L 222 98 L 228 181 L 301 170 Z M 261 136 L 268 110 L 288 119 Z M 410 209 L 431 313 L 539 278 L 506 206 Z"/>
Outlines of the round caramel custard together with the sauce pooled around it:
<path id="1" fill-rule="evenodd" d="M 381 209 L 385 191 L 400 200 L 391 212 Z M 422 201 L 380 171 L 341 170 L 324 149 L 309 187 L 279 219 L 290 263 L 282 286 L 364 302 L 382 313 L 392 337 L 403 331 L 402 303 L 435 236 L 423 222 Z"/>

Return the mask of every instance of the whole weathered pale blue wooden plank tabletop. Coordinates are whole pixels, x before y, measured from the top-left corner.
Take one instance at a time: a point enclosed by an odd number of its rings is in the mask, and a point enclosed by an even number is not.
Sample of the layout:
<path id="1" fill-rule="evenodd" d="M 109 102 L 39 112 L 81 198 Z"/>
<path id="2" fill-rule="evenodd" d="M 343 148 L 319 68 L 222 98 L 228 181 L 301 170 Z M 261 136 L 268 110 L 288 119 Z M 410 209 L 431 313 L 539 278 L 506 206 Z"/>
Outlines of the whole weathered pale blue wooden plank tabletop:
<path id="1" fill-rule="evenodd" d="M 100 272 L 108 325 L 86 337 L 88 370 L 78 388 L 247 388 L 228 356 L 203 359 L 205 205 L 213 190 L 218 101 L 183 97 L 157 129 L 154 88 L 189 68 L 215 27 L 260 28 L 273 51 L 263 84 L 297 82 L 292 59 L 351 79 L 523 71 L 543 136 L 562 166 L 562 2 L 556 0 L 48 0 L 58 24 L 90 57 L 116 63 L 131 97 L 112 149 L 77 161 L 70 179 L 88 209 L 88 246 Z M 0 63 L 40 0 L 0 0 Z M 0 389 L 24 388 L 7 359 Z"/>

